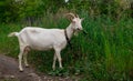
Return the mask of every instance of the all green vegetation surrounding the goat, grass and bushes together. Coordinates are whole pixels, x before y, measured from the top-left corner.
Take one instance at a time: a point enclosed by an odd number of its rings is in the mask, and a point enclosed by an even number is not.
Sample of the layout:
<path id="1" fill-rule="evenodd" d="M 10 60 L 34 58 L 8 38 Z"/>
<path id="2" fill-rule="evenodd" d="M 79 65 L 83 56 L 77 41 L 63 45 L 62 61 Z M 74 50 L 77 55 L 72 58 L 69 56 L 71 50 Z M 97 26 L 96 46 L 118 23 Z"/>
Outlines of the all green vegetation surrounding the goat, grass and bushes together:
<path id="1" fill-rule="evenodd" d="M 17 0 L 16 0 L 17 1 Z M 62 51 L 63 70 L 52 71 L 53 51 L 31 51 L 30 64 L 51 75 L 74 75 L 81 81 L 133 80 L 133 8 L 121 0 L 4 0 L 0 1 L 0 52 L 18 57 L 12 31 L 25 26 L 64 29 L 70 23 L 63 14 L 75 12 L 84 18 L 82 32 Z M 125 3 L 125 2 L 124 2 Z M 49 7 L 51 6 L 51 7 Z"/>

